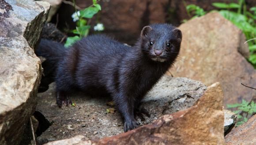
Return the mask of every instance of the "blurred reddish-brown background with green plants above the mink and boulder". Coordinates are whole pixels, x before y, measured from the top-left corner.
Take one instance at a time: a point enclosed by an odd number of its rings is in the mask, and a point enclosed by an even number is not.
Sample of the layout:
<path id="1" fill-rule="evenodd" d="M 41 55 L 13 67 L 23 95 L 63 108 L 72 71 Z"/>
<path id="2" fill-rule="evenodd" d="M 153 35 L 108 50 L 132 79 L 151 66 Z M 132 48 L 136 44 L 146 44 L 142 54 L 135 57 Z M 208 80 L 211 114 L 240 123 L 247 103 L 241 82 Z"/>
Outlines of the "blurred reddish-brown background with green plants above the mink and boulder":
<path id="1" fill-rule="evenodd" d="M 248 62 L 256 68 L 256 0 L 64 0 L 51 22 L 69 36 L 65 46 L 89 33 L 107 33 L 132 45 L 144 25 L 179 26 L 213 11 L 242 30 Z"/>

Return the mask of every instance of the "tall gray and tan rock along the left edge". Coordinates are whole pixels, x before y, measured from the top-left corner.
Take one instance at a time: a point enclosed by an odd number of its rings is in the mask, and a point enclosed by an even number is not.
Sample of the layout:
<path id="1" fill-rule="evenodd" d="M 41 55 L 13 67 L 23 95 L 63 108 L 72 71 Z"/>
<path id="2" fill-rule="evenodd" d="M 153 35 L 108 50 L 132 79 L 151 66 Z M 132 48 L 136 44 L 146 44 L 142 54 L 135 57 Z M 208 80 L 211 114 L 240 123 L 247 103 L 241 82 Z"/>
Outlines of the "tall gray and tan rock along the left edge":
<path id="1" fill-rule="evenodd" d="M 16 145 L 36 106 L 41 62 L 34 54 L 49 4 L 6 0 L 0 13 L 0 145 Z"/>

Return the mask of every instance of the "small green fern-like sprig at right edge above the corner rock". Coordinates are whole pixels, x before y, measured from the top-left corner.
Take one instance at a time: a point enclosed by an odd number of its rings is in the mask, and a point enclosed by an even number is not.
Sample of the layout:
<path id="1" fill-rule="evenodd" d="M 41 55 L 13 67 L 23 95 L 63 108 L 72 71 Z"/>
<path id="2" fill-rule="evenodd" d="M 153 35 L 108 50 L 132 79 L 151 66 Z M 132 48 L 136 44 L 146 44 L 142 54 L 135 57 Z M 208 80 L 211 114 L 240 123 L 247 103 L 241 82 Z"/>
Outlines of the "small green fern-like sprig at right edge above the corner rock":
<path id="1" fill-rule="evenodd" d="M 252 115 L 252 113 L 256 112 L 256 104 L 254 103 L 254 101 L 248 102 L 245 101 L 244 99 L 242 100 L 242 103 L 238 104 L 227 104 L 227 108 L 237 108 L 236 111 L 234 111 L 234 113 L 237 114 L 237 118 L 238 118 L 238 122 L 236 124 L 236 126 L 239 126 L 245 122 L 247 122 L 248 118 L 248 114 Z M 240 112 L 245 112 L 246 116 L 241 116 Z"/>

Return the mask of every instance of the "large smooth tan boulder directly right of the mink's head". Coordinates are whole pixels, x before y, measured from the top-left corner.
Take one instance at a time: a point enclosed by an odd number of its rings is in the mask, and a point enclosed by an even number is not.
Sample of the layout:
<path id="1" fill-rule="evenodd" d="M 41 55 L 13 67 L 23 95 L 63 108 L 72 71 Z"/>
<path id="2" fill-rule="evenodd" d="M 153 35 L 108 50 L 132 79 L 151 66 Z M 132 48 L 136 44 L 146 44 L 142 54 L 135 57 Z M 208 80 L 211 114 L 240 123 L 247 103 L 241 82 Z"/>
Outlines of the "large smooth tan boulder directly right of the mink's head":
<path id="1" fill-rule="evenodd" d="M 206 85 L 220 82 L 224 105 L 240 102 L 242 98 L 251 101 L 256 91 L 241 83 L 256 87 L 256 70 L 238 52 L 245 45 L 241 43 L 245 42 L 241 30 L 218 13 L 190 20 L 179 29 L 183 40 L 180 59 L 170 70 L 173 76 L 200 80 Z"/>

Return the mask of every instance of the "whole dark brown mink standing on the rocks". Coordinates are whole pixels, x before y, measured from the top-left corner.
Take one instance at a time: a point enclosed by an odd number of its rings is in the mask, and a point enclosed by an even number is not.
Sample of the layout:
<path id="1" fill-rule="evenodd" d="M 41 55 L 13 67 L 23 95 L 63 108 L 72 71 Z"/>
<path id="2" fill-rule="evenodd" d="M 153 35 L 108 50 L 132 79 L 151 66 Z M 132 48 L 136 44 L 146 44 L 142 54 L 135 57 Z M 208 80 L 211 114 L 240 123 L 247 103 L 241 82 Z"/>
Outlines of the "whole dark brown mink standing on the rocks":
<path id="1" fill-rule="evenodd" d="M 173 65 L 181 40 L 182 33 L 174 26 L 154 24 L 142 29 L 133 47 L 91 35 L 68 49 L 41 40 L 36 53 L 56 68 L 57 105 L 70 104 L 68 94 L 77 88 L 109 94 L 124 118 L 126 132 L 138 127 L 135 115 L 150 116 L 140 107 L 141 99 Z"/>

